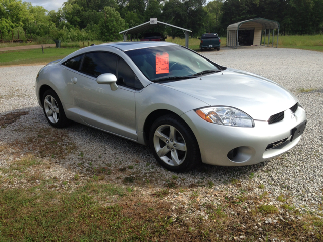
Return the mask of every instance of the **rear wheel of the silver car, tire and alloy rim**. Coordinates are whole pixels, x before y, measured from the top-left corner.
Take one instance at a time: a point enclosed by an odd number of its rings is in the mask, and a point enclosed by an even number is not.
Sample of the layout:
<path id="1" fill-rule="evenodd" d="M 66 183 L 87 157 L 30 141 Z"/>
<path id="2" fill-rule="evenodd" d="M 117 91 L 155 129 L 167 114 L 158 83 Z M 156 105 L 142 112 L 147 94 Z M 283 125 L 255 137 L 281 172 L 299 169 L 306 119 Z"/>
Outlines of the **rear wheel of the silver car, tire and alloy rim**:
<path id="1" fill-rule="evenodd" d="M 51 97 L 53 98 L 53 100 Z M 51 104 L 53 102 L 53 105 L 50 105 L 47 102 L 45 103 L 46 98 Z M 54 90 L 49 89 L 45 91 L 44 95 L 42 96 L 42 106 L 45 117 L 51 126 L 56 128 L 64 128 L 70 124 L 69 119 L 65 115 L 61 100 Z M 56 113 L 56 111 L 54 111 L 57 110 L 57 107 L 59 109 L 59 113 Z M 47 115 L 46 112 L 48 112 L 49 109 L 51 114 L 49 113 L 49 115 Z"/>

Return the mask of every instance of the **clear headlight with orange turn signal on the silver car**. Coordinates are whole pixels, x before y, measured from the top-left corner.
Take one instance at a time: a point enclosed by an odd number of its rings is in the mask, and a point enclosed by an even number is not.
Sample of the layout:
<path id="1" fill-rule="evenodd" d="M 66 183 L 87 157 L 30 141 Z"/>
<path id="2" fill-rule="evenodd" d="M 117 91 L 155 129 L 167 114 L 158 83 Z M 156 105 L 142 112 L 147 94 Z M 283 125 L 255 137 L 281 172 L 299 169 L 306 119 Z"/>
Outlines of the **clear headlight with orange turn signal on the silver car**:
<path id="1" fill-rule="evenodd" d="M 206 107 L 195 110 L 205 121 L 226 126 L 254 127 L 252 117 L 233 107 Z"/>

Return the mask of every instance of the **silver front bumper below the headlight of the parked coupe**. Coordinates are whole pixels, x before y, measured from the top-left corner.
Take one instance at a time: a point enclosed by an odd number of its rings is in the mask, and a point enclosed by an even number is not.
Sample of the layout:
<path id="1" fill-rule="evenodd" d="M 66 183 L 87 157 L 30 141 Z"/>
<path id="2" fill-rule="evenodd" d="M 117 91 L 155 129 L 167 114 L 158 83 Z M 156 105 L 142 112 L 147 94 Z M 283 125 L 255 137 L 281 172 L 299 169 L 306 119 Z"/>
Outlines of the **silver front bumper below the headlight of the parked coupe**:
<path id="1" fill-rule="evenodd" d="M 243 166 L 263 162 L 279 156 L 293 148 L 301 136 L 290 141 L 291 130 L 306 120 L 304 109 L 299 106 L 292 117 L 290 110 L 285 111 L 282 121 L 268 124 L 254 120 L 253 128 L 230 127 L 208 123 L 195 111 L 181 116 L 192 129 L 201 152 L 202 162 L 220 166 Z M 272 149 L 266 149 L 273 142 L 288 138 L 287 141 Z M 238 148 L 237 158 L 229 159 L 228 153 Z"/>

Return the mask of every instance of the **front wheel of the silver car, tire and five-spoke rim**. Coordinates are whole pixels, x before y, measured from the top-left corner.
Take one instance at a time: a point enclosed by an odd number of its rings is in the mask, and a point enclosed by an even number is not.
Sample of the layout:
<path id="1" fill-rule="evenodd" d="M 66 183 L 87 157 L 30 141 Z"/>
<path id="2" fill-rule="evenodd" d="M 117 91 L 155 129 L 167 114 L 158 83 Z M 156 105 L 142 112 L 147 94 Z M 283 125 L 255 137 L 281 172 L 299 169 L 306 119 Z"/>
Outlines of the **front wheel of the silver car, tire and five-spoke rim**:
<path id="1" fill-rule="evenodd" d="M 167 130 L 168 126 L 169 130 Z M 171 136 L 170 127 L 175 128 L 174 136 Z M 168 134 L 169 140 L 166 140 L 164 142 L 161 139 L 165 139 L 165 137 L 160 138 L 159 136 L 155 136 L 155 132 L 160 131 L 165 131 L 164 134 Z M 172 137 L 174 137 L 173 141 Z M 183 119 L 176 115 L 167 114 L 155 120 L 150 128 L 149 144 L 156 160 L 161 166 L 165 167 L 168 170 L 175 172 L 185 172 L 194 168 L 201 162 L 199 146 L 192 130 L 184 122 Z M 183 144 L 185 144 L 186 151 L 181 150 L 184 149 L 183 147 L 181 147 Z M 168 151 L 166 148 L 168 149 Z M 157 152 L 163 149 L 168 153 L 165 153 L 165 155 L 159 157 Z M 163 151 L 161 153 L 163 153 Z M 177 157 L 177 160 L 180 161 L 179 164 L 175 164 L 176 162 L 173 161 L 173 155 L 175 155 Z"/>

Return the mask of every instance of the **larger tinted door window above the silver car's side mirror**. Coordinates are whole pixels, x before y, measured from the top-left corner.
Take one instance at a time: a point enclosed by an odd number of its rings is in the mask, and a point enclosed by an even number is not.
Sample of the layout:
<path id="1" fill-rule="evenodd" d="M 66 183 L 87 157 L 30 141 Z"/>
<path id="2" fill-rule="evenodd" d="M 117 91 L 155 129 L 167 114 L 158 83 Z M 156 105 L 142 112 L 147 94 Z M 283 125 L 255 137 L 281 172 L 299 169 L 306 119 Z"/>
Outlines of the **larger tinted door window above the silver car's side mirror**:
<path id="1" fill-rule="evenodd" d="M 106 52 L 93 52 L 85 55 L 81 71 L 98 77 L 103 73 L 116 75 L 118 57 Z"/>

